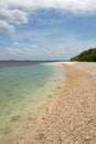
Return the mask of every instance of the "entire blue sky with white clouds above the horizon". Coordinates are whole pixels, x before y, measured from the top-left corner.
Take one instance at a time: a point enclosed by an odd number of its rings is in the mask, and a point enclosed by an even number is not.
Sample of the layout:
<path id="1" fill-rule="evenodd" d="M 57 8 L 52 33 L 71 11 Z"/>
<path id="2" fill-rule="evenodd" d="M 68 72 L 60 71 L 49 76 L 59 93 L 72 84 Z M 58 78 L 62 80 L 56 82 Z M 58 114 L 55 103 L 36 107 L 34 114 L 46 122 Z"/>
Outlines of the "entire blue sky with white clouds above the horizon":
<path id="1" fill-rule="evenodd" d="M 96 48 L 96 0 L 0 0 L 0 60 L 70 60 Z"/>

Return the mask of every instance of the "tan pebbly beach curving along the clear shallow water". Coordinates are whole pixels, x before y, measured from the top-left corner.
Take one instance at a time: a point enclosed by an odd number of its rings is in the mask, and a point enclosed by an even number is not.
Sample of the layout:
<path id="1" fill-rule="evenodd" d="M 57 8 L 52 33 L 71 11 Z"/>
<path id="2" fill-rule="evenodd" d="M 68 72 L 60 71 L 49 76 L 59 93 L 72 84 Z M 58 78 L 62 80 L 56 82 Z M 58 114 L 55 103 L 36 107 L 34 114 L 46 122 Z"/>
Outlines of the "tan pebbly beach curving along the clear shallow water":
<path id="1" fill-rule="evenodd" d="M 66 79 L 19 144 L 95 144 L 96 63 L 55 64 Z"/>

